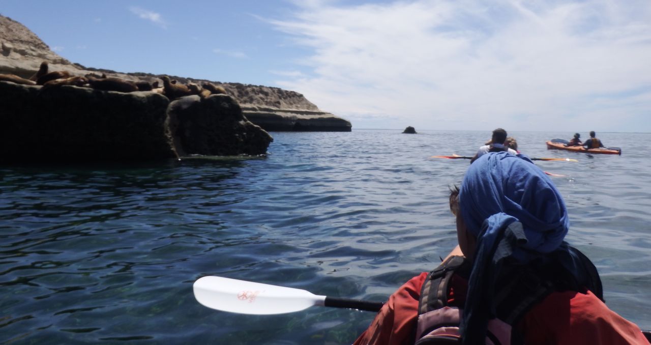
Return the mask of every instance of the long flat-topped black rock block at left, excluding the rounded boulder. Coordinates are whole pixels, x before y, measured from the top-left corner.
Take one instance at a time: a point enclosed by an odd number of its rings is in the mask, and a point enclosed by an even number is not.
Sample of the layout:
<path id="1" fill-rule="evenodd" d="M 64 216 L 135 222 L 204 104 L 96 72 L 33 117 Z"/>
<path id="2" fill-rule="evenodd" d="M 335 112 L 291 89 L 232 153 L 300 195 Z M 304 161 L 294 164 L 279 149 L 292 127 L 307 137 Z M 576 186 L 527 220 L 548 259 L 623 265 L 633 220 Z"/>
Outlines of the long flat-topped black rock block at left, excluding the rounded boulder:
<path id="1" fill-rule="evenodd" d="M 0 81 L 0 162 L 175 158 L 169 100 L 155 92 Z"/>

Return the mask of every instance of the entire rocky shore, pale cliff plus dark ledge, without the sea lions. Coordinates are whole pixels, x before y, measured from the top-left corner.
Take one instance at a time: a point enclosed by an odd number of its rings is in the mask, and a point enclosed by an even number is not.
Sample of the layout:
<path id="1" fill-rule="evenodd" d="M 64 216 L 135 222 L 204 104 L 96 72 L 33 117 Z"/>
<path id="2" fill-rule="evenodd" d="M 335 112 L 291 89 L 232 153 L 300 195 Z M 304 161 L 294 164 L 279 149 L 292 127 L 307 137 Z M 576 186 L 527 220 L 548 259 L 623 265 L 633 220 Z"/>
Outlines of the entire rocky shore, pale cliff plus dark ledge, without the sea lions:
<path id="1" fill-rule="evenodd" d="M 40 63 L 49 71 L 92 72 L 129 81 L 161 76 L 122 74 L 74 64 L 27 27 L 0 15 L 0 74 L 29 78 Z M 265 154 L 267 130 L 350 131 L 350 122 L 320 111 L 294 91 L 171 76 L 181 83 L 214 83 L 230 96 L 174 101 L 156 92 L 105 92 L 73 86 L 16 85 L 0 81 L 0 163 L 176 158 L 189 154 Z M 247 107 L 245 112 L 238 104 Z M 169 106 L 169 109 L 168 109 Z M 169 116 L 169 118 L 168 118 Z"/>

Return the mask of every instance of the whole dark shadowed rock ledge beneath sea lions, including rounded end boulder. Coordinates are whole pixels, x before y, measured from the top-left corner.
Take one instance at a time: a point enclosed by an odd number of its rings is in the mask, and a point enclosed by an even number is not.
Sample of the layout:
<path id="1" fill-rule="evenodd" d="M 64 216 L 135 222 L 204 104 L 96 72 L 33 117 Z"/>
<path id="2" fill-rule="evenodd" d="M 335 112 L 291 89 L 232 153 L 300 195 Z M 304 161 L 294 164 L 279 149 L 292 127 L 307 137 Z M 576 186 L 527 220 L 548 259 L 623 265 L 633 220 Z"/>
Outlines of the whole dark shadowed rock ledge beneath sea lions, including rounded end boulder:
<path id="1" fill-rule="evenodd" d="M 170 104 L 151 91 L 0 81 L 0 163 L 264 154 L 273 139 L 227 95 Z"/>

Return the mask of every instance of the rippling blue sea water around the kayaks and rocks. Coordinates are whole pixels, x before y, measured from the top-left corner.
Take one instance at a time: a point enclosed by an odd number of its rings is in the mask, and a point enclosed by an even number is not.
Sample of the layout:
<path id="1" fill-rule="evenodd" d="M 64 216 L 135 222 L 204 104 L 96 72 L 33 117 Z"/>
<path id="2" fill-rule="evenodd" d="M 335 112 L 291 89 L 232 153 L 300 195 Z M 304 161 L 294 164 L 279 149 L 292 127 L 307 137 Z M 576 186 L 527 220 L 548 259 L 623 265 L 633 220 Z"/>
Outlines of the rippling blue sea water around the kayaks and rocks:
<path id="1" fill-rule="evenodd" d="M 590 130 L 589 128 L 587 130 Z M 374 313 L 251 316 L 203 307 L 204 275 L 384 301 L 456 245 L 449 187 L 490 131 L 275 133 L 268 156 L 0 166 L 0 343 L 350 344 Z M 566 240 L 607 305 L 651 329 L 648 133 L 622 156 L 547 150 L 516 132 L 568 205 Z"/>

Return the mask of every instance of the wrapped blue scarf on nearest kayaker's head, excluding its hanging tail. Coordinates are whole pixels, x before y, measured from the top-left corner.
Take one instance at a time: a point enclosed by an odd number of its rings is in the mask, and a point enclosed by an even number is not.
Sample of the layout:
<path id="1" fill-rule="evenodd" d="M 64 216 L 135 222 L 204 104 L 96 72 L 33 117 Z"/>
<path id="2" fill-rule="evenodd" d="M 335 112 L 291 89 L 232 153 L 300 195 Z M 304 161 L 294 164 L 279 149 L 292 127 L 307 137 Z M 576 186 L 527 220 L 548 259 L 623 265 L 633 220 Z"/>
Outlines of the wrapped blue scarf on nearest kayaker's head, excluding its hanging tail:
<path id="1" fill-rule="evenodd" d="M 569 221 L 561 193 L 547 175 L 529 161 L 506 152 L 484 154 L 465 173 L 460 210 L 471 234 L 482 234 L 484 221 L 499 227 L 513 219 L 527 235 L 525 249 L 549 253 L 559 247 Z M 493 227 L 494 228 L 494 227 Z"/>

